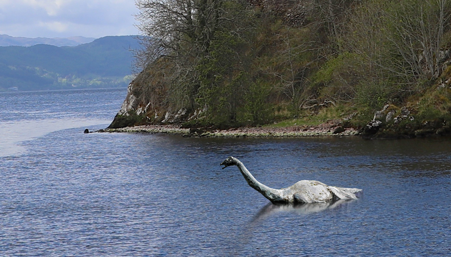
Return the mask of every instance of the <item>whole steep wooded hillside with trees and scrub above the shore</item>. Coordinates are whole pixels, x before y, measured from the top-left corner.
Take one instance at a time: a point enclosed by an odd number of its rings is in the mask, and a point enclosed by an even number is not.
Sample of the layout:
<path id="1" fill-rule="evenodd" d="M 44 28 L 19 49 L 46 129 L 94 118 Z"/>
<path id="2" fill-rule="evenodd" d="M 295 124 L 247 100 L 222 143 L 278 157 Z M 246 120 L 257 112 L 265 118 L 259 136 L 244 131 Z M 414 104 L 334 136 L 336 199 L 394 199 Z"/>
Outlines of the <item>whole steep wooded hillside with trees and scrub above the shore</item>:
<path id="1" fill-rule="evenodd" d="M 136 2 L 142 71 L 112 126 L 451 119 L 449 0 Z"/>

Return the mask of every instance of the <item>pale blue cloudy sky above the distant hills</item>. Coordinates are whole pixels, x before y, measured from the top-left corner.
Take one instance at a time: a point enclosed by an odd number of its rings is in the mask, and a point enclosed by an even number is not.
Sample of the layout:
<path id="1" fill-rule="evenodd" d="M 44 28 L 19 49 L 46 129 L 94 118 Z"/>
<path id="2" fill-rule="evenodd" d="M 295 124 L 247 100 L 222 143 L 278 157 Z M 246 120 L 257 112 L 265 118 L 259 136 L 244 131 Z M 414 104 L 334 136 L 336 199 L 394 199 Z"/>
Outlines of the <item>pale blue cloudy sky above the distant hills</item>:
<path id="1" fill-rule="evenodd" d="M 136 35 L 134 0 L 0 0 L 0 34 L 24 37 Z"/>

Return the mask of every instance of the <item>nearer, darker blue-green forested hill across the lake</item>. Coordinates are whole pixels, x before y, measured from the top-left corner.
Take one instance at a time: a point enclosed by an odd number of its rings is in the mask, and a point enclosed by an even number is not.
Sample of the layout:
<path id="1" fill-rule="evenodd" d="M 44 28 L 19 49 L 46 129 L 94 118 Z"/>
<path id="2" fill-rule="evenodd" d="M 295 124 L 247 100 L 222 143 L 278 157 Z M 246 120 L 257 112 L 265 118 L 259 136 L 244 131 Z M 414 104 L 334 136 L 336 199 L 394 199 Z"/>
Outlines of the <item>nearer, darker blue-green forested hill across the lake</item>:
<path id="1" fill-rule="evenodd" d="M 126 86 L 135 36 L 105 36 L 77 46 L 0 47 L 0 90 Z"/>

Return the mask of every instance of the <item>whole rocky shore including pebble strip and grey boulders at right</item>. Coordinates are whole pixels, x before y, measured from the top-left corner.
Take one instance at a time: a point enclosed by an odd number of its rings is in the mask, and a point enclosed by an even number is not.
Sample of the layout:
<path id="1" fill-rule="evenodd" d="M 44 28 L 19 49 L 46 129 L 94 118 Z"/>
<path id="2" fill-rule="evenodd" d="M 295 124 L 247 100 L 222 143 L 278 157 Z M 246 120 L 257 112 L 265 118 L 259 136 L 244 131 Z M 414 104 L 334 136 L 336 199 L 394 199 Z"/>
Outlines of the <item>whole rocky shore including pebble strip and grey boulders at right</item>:
<path id="1" fill-rule="evenodd" d="M 449 122 L 447 118 L 435 116 L 425 117 L 424 114 L 421 115 L 417 109 L 412 107 L 397 107 L 392 104 L 386 104 L 381 110 L 376 111 L 373 118 L 366 122 L 366 124 L 361 122 L 363 120 L 352 124 L 351 120 L 355 115 L 356 112 L 342 119 L 329 119 L 319 125 L 278 126 L 277 124 L 271 124 L 230 129 L 213 129 L 211 127 L 186 128 L 181 125 L 183 119 L 177 115 L 173 115 L 171 120 L 163 120 L 166 122 L 165 124 L 162 122 L 163 124 L 124 127 L 110 125 L 108 128 L 101 129 L 98 132 L 167 133 L 178 134 L 183 137 L 301 137 L 360 135 L 365 139 L 398 139 L 451 135 L 451 122 Z M 169 117 L 170 115 L 166 116 Z M 360 125 L 356 125 L 356 123 L 360 123 Z"/>

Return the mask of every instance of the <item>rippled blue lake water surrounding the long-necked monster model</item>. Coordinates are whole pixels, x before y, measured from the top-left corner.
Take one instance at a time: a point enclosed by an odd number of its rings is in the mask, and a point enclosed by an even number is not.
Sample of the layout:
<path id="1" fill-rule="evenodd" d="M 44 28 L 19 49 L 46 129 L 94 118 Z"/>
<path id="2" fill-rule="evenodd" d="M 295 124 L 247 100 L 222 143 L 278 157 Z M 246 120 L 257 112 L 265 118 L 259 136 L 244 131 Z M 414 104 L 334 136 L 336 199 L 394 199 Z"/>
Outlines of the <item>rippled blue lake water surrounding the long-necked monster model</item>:
<path id="1" fill-rule="evenodd" d="M 2 256 L 449 256 L 451 140 L 89 133 L 125 89 L 0 93 Z M 363 189 L 273 205 L 301 179 Z"/>

